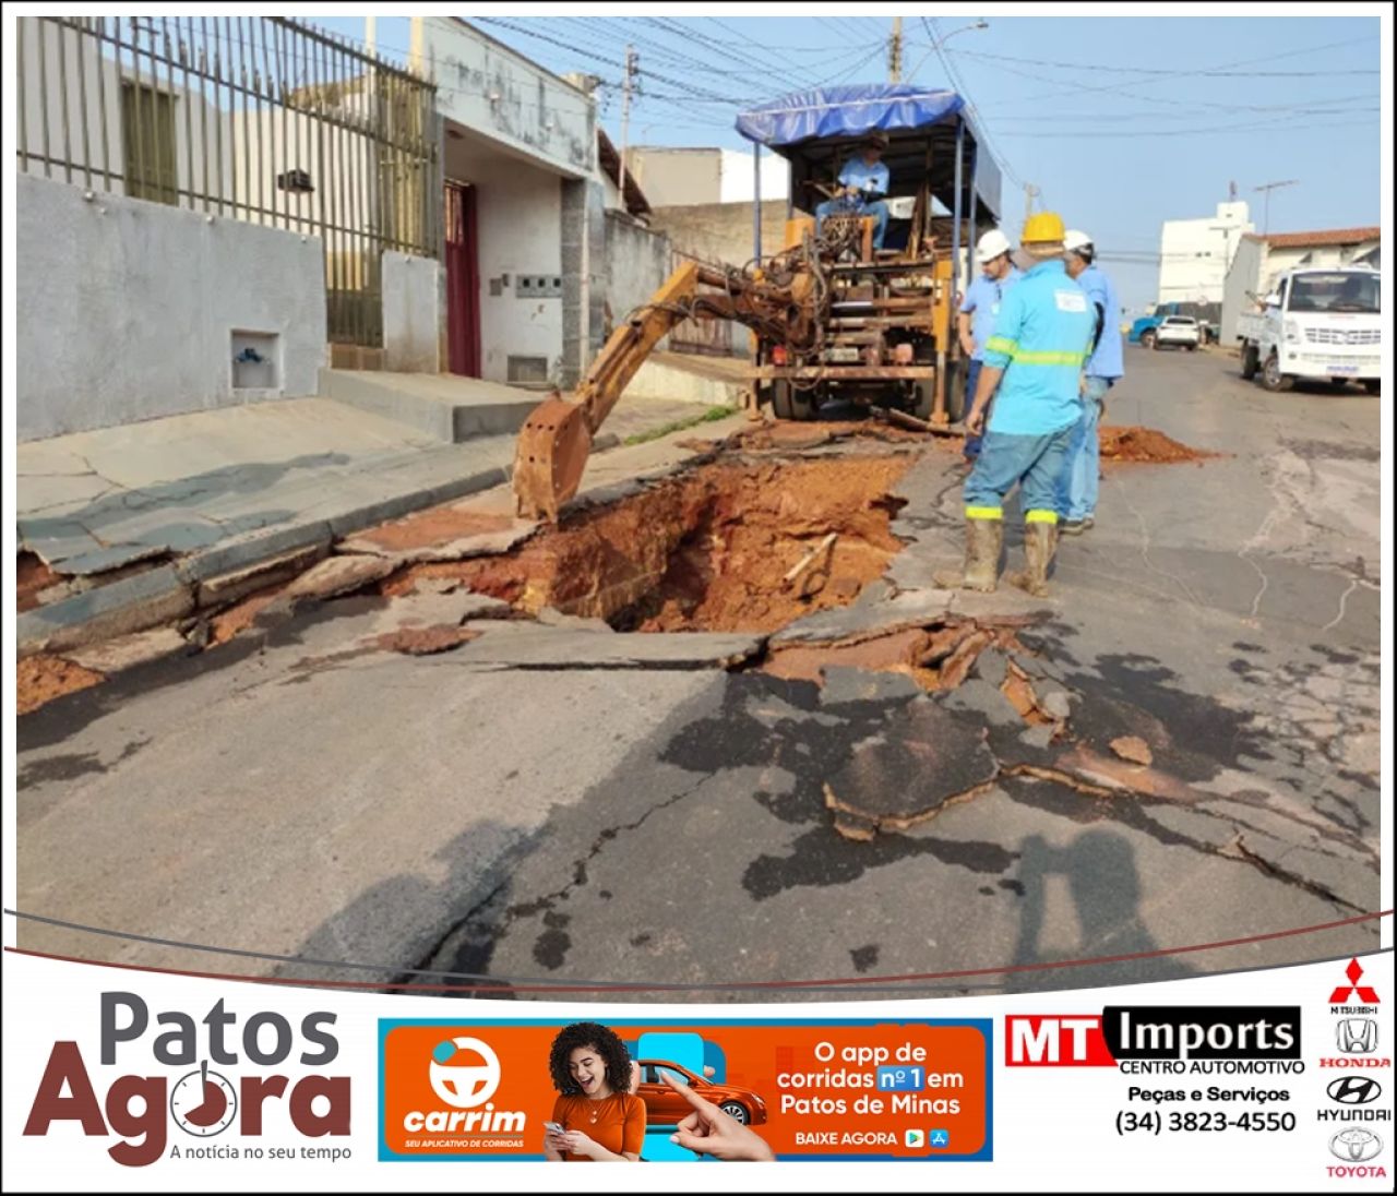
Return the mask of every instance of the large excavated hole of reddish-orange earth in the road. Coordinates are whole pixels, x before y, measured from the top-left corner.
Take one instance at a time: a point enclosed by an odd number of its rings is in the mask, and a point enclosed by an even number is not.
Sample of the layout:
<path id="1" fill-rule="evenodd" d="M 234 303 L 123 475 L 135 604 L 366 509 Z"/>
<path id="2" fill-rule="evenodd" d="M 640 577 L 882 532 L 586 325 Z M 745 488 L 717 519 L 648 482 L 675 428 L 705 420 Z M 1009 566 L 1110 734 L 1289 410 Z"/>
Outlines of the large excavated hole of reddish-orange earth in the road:
<path id="1" fill-rule="evenodd" d="M 384 585 L 457 578 L 536 613 L 619 632 L 774 632 L 845 606 L 900 550 L 891 490 L 914 454 L 712 464 L 495 557 L 419 564 Z"/>

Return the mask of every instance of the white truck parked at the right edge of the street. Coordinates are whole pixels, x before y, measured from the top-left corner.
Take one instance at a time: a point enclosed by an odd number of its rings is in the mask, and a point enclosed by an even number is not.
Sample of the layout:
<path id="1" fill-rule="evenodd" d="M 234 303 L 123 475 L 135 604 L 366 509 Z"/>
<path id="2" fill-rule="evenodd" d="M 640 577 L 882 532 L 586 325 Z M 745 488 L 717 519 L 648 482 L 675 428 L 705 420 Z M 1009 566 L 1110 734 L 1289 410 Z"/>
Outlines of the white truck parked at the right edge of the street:
<path id="1" fill-rule="evenodd" d="M 1288 270 L 1266 310 L 1238 319 L 1242 377 L 1270 391 L 1296 379 L 1361 381 L 1377 394 L 1382 373 L 1379 272 L 1369 267 Z"/>

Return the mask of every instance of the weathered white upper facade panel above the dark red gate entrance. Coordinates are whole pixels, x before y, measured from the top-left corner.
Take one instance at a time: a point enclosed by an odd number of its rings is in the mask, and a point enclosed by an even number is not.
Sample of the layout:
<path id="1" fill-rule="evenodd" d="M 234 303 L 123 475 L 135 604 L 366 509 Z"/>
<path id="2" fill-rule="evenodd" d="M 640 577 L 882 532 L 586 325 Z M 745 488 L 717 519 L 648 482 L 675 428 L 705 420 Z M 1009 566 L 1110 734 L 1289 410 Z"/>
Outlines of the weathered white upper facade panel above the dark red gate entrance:
<path id="1" fill-rule="evenodd" d="M 597 106 L 585 92 L 454 17 L 414 20 L 441 116 L 571 177 L 594 172 Z"/>

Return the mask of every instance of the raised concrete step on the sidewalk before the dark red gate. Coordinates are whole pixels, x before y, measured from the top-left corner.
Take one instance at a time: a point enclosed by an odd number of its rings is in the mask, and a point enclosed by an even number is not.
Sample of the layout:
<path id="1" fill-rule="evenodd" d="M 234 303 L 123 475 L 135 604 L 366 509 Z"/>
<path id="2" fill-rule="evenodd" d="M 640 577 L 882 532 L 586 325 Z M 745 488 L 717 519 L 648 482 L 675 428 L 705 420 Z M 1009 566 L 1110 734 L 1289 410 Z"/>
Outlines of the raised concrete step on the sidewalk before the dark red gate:
<path id="1" fill-rule="evenodd" d="M 320 370 L 320 395 L 370 411 L 447 444 L 513 436 L 543 394 L 457 374 Z"/>

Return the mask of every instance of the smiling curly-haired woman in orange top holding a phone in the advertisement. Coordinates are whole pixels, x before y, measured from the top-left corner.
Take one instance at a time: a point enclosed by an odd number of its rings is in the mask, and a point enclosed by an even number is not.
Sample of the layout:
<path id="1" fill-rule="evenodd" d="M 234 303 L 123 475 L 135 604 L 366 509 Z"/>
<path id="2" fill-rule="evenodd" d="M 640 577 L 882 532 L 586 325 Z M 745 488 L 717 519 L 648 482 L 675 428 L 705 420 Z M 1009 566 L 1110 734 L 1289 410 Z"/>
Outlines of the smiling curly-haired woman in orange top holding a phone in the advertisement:
<path id="1" fill-rule="evenodd" d="M 595 1021 L 559 1031 L 548 1069 L 559 1097 L 543 1154 L 550 1162 L 637 1162 L 645 1144 L 645 1102 L 630 1088 L 626 1044 Z"/>

